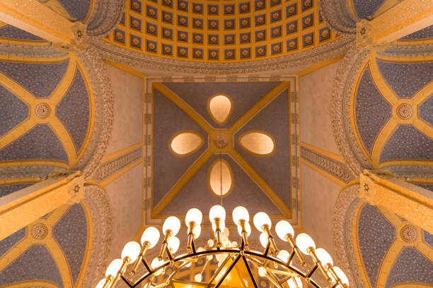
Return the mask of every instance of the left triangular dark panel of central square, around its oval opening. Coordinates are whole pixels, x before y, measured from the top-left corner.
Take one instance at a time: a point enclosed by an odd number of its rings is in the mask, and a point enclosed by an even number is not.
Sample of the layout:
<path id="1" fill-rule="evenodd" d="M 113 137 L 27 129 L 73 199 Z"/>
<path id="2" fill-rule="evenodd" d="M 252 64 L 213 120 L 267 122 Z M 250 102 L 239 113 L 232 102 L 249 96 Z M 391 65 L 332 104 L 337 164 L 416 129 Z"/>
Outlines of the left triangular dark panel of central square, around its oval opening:
<path id="1" fill-rule="evenodd" d="M 188 167 L 207 149 L 207 134 L 158 90 L 154 92 L 154 189 L 156 205 Z M 169 150 L 171 138 L 181 130 L 192 130 L 204 138 L 202 148 L 187 157 L 176 157 Z"/>

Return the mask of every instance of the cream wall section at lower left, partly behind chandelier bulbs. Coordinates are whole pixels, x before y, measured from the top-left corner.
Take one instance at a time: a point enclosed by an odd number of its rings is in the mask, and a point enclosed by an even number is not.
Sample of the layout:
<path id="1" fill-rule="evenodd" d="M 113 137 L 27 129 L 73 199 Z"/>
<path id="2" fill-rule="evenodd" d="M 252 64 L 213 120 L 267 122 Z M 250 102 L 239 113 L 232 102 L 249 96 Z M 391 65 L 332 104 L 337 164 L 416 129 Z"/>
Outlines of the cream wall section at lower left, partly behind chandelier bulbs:
<path id="1" fill-rule="evenodd" d="M 142 226 L 142 165 L 137 165 L 105 187 L 112 210 L 109 259 L 120 258 L 123 246 Z"/>

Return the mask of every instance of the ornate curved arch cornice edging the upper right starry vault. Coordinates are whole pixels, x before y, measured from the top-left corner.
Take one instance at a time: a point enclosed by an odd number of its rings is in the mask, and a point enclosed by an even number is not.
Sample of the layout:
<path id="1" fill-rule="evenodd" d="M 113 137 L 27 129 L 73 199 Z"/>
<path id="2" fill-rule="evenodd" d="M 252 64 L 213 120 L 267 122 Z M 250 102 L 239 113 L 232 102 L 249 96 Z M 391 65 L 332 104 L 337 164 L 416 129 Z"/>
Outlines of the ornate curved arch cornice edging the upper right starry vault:
<path id="1" fill-rule="evenodd" d="M 334 80 L 331 100 L 331 122 L 333 124 L 334 139 L 341 155 L 352 174 L 359 175 L 364 169 L 371 169 L 369 161 L 359 148 L 352 130 L 350 119 L 350 97 L 354 78 L 362 66 L 368 50 L 358 50 L 354 44 L 347 50 L 345 58 L 340 64 Z"/>

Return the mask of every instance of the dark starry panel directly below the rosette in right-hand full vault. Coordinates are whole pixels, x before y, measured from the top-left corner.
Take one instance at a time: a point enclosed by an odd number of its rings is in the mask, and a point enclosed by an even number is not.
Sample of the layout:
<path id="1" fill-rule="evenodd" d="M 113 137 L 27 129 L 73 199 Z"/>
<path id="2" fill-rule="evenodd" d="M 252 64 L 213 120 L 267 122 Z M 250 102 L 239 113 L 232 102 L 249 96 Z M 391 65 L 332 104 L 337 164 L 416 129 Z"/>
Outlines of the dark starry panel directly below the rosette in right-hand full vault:
<path id="1" fill-rule="evenodd" d="M 433 140 L 412 125 L 400 125 L 381 152 L 381 162 L 391 159 L 433 160 Z"/>

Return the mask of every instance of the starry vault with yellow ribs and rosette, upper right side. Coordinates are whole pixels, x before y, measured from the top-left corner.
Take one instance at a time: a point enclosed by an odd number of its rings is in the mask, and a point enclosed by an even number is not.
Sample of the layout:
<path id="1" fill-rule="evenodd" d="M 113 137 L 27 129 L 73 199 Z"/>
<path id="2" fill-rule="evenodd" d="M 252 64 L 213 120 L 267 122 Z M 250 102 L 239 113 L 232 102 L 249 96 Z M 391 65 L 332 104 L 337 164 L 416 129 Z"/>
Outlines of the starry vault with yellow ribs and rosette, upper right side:
<path id="1" fill-rule="evenodd" d="M 372 54 L 352 90 L 351 119 L 359 146 L 374 167 L 431 165 L 431 57 Z"/>

